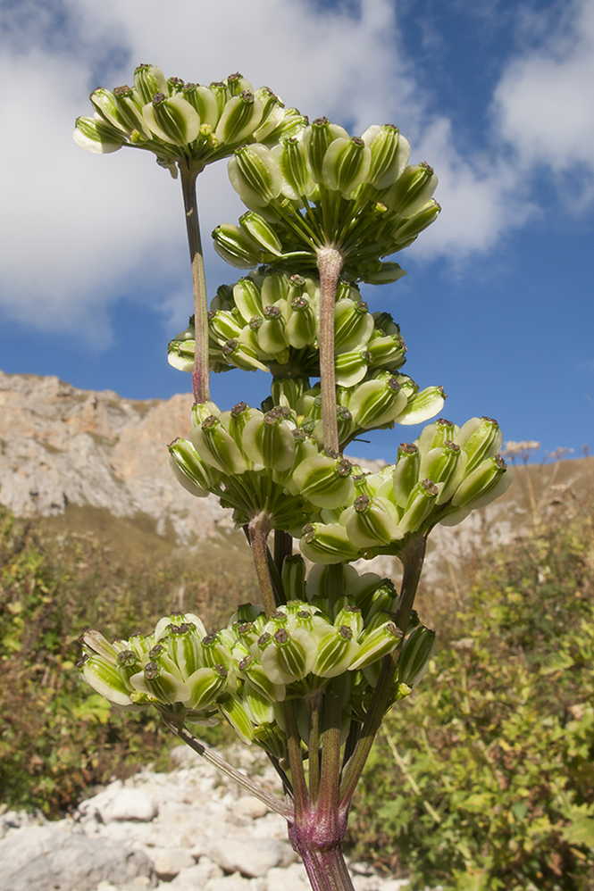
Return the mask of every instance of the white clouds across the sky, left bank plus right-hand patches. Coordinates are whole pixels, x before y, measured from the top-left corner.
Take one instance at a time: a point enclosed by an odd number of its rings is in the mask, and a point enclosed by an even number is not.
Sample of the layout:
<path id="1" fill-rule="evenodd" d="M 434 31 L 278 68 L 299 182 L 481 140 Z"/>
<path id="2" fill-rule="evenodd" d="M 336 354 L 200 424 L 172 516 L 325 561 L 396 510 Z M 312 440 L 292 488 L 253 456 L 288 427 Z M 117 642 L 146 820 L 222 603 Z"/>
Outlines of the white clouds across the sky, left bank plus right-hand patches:
<path id="1" fill-rule="evenodd" d="M 524 172 L 532 164 L 556 171 L 572 159 L 594 165 L 592 112 L 580 86 L 592 82 L 594 0 L 572 7 L 561 37 L 529 46 L 504 71 L 488 160 L 469 154 L 451 121 L 428 111 L 434 97 L 415 81 L 397 8 L 393 0 L 334 8 L 307 0 L 5 5 L 0 102 L 13 137 L 0 147 L 4 315 L 33 328 L 71 330 L 97 346 L 109 340 L 110 308 L 130 294 L 172 323 L 184 322 L 189 271 L 179 183 L 150 154 L 101 157 L 71 140 L 74 118 L 90 111 L 90 89 L 130 80 L 138 62 L 206 83 L 243 71 L 311 118 L 326 114 L 354 132 L 400 123 L 414 159 L 439 173 L 444 212 L 420 239 L 424 255 L 473 256 L 523 225 L 536 206 Z M 572 21 L 579 37 L 572 37 Z M 557 106 L 562 133 L 551 124 Z M 235 221 L 242 210 L 226 179 L 219 164 L 199 181 L 206 246 L 214 225 Z M 233 275 L 218 259 L 207 273 L 212 283 Z"/>

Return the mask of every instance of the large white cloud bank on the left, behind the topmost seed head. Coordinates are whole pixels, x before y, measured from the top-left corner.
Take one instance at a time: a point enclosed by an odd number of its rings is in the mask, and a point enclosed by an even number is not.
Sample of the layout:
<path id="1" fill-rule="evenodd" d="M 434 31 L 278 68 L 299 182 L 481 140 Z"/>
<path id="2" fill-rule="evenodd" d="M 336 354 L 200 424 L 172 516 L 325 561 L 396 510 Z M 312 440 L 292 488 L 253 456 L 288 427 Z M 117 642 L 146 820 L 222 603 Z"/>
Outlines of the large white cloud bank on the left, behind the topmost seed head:
<path id="1" fill-rule="evenodd" d="M 288 104 L 364 129 L 389 88 L 393 27 L 388 0 L 364 0 L 355 17 L 297 0 L 230 0 L 224 9 L 193 0 L 166 10 L 155 0 L 5 6 L 1 102 L 13 134 L 1 149 L 5 316 L 100 343 L 110 304 L 130 290 L 181 314 L 189 272 L 179 183 L 151 154 L 99 157 L 72 142 L 74 118 L 90 113 L 88 91 L 99 82 L 125 82 L 145 59 L 207 83 L 239 68 L 256 86 L 270 81 Z M 383 49 L 373 53 L 380 35 Z M 200 178 L 206 245 L 217 222 L 242 211 L 226 179 L 224 164 Z"/>

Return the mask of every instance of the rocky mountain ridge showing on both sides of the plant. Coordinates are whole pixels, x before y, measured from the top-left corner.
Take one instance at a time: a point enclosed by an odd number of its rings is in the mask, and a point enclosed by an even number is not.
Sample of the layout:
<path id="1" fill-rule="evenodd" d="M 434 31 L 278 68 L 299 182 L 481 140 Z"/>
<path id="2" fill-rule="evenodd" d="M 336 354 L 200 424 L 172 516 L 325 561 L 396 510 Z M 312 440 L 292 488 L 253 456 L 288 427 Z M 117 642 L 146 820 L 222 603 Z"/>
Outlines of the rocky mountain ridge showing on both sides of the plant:
<path id="1" fill-rule="evenodd" d="M 79 390 L 56 377 L 0 371 L 0 504 L 20 517 L 62 517 L 70 527 L 96 522 L 99 514 L 104 526 L 121 520 L 150 538 L 148 550 L 159 539 L 198 550 L 229 538 L 234 550 L 243 546 L 229 512 L 212 495 L 189 495 L 169 469 L 166 445 L 188 436 L 191 404 L 189 394 L 133 400 L 112 390 Z M 473 548 L 522 534 L 594 482 L 594 458 L 513 470 L 514 484 L 498 502 L 455 529 L 433 531 L 425 581 L 449 584 Z M 112 537 L 120 537 L 121 524 L 113 529 Z M 361 561 L 361 568 L 399 575 L 392 557 Z"/>

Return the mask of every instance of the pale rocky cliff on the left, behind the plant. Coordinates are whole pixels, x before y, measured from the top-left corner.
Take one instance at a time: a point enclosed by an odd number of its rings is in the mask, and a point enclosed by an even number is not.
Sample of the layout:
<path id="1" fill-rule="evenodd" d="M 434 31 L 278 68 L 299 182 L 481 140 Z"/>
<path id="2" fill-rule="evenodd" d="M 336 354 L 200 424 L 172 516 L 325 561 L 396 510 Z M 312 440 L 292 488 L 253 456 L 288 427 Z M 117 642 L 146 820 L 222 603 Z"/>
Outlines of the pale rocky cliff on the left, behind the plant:
<path id="1" fill-rule="evenodd" d="M 0 371 L 0 504 L 47 516 L 67 504 L 146 514 L 180 544 L 230 526 L 216 499 L 189 495 L 169 468 L 167 443 L 188 436 L 189 394 L 132 400 L 79 390 L 55 377 Z"/>

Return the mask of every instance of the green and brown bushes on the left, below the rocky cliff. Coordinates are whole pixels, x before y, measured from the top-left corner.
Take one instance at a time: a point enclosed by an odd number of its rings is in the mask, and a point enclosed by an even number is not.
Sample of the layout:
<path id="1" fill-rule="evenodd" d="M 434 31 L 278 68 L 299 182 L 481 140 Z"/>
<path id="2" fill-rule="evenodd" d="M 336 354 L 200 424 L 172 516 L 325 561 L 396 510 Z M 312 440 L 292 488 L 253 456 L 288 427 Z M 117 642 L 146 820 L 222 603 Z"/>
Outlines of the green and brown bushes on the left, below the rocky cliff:
<path id="1" fill-rule="evenodd" d="M 233 542 L 178 554 L 142 520 L 82 509 L 27 522 L 0 513 L 0 788 L 6 804 L 54 815 L 90 785 L 128 776 L 147 762 L 167 766 L 172 740 L 157 716 L 118 712 L 89 694 L 74 667 L 78 638 L 90 625 L 127 636 L 182 605 L 216 626 L 254 597 L 249 552 L 240 537 Z M 204 736 L 211 744 L 227 738 L 221 727 L 205 729 Z"/>

